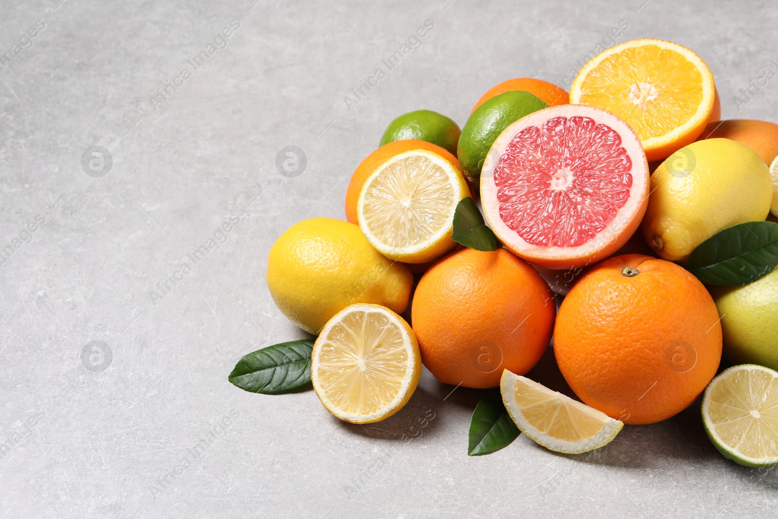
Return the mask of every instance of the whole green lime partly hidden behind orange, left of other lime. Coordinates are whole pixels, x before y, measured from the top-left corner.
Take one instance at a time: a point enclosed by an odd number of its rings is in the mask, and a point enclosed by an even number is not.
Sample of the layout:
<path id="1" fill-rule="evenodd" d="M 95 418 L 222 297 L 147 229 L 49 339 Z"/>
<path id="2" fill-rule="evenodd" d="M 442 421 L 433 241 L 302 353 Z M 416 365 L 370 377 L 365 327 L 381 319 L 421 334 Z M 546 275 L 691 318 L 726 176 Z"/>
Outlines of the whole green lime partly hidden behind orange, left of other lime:
<path id="1" fill-rule="evenodd" d="M 457 142 L 461 130 L 457 123 L 433 110 L 416 110 L 402 114 L 387 126 L 378 146 L 389 142 L 418 139 L 432 142 L 452 155 L 457 154 Z"/>

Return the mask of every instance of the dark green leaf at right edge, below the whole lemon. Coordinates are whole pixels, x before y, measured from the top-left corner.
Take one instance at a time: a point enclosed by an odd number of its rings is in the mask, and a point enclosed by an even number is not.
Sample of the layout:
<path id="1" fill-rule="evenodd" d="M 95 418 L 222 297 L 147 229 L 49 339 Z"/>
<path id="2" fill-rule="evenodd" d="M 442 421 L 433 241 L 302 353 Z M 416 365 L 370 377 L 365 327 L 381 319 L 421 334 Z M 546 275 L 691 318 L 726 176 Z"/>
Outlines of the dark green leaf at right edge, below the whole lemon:
<path id="1" fill-rule="evenodd" d="M 778 265 L 778 223 L 746 222 L 727 227 L 692 251 L 686 269 L 708 285 L 755 282 Z"/>

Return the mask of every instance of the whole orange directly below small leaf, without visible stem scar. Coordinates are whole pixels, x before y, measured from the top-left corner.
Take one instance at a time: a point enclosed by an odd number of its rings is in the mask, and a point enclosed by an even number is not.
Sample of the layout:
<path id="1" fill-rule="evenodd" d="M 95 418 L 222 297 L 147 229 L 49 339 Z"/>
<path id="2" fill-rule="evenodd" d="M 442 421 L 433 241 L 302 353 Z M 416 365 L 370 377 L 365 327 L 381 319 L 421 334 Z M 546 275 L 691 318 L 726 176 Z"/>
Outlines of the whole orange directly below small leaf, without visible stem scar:
<path id="1" fill-rule="evenodd" d="M 496 387 L 503 369 L 523 375 L 538 363 L 555 313 L 553 293 L 526 261 L 464 248 L 422 275 L 411 325 L 436 379 Z"/>

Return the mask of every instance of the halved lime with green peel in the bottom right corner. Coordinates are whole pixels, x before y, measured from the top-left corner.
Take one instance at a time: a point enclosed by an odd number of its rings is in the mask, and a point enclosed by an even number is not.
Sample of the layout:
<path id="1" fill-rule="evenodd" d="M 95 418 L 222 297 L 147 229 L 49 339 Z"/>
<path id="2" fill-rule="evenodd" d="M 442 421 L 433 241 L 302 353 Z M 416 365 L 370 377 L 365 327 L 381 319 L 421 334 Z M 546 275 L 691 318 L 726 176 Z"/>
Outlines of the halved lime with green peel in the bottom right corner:
<path id="1" fill-rule="evenodd" d="M 755 364 L 724 370 L 705 390 L 703 424 L 725 458 L 778 464 L 778 372 Z"/>

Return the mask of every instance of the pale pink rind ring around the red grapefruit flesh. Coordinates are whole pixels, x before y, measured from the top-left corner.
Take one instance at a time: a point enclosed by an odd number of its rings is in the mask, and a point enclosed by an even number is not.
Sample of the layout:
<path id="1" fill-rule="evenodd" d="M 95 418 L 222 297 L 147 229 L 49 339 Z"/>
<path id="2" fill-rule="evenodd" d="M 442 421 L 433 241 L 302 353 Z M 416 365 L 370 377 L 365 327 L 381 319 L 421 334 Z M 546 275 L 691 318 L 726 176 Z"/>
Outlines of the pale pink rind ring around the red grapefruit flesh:
<path id="1" fill-rule="evenodd" d="M 543 247 L 528 243 L 503 222 L 499 214 L 498 188 L 495 170 L 506 147 L 525 128 L 541 127 L 554 117 L 589 117 L 598 124 L 606 124 L 619 134 L 621 146 L 632 162 L 629 174 L 632 185 L 629 199 L 622 205 L 608 226 L 586 243 L 576 247 Z M 547 268 L 584 268 L 607 258 L 624 245 L 635 233 L 646 212 L 649 194 L 648 162 L 640 139 L 632 128 L 619 117 L 606 110 L 588 105 L 565 104 L 538 110 L 510 124 L 495 140 L 486 156 L 481 175 L 481 201 L 484 216 L 505 247 L 535 265 Z"/>

